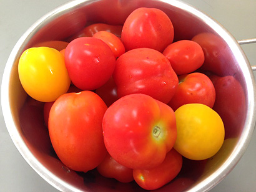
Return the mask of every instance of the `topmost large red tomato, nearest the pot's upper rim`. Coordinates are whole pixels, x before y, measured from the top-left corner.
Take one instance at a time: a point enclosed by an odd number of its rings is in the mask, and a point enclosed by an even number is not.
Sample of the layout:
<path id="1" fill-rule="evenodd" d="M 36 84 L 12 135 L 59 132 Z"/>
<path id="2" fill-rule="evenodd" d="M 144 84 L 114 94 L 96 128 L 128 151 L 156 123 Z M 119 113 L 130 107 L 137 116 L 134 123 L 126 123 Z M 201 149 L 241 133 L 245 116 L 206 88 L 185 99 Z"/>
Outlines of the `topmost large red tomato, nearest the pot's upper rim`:
<path id="1" fill-rule="evenodd" d="M 140 7 L 124 22 L 121 39 L 126 50 L 147 47 L 162 52 L 174 39 L 174 27 L 160 9 Z"/>

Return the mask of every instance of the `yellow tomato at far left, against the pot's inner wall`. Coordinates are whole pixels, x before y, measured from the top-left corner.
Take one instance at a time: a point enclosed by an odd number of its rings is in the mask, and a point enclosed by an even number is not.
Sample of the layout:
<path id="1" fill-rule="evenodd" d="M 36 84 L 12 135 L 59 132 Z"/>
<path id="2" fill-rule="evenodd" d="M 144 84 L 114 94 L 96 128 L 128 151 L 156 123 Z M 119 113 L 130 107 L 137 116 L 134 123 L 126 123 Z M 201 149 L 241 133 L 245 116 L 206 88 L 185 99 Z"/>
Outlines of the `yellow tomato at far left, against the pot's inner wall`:
<path id="1" fill-rule="evenodd" d="M 67 92 L 71 80 L 63 55 L 49 47 L 25 50 L 18 65 L 22 87 L 32 98 L 52 102 Z"/>

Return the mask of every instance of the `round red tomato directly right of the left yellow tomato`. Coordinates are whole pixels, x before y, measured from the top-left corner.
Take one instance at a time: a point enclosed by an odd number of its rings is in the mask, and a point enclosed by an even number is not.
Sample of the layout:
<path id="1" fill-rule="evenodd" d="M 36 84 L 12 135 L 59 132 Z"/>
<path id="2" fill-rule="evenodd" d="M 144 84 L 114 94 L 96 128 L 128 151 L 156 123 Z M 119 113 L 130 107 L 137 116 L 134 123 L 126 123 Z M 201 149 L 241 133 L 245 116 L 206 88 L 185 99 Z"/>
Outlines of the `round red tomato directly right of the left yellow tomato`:
<path id="1" fill-rule="evenodd" d="M 65 64 L 76 87 L 94 90 L 109 80 L 114 72 L 116 57 L 109 46 L 100 39 L 80 37 L 67 46 Z"/>

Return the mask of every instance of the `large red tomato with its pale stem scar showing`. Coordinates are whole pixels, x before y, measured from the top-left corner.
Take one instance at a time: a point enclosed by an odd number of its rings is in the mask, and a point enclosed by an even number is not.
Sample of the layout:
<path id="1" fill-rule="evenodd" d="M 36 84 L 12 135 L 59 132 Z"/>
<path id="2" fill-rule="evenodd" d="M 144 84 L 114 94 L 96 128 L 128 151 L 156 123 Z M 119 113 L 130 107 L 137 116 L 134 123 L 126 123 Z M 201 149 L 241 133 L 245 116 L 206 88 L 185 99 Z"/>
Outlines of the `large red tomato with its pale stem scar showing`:
<path id="1" fill-rule="evenodd" d="M 128 168 L 160 165 L 174 145 L 176 132 L 172 108 L 145 94 L 119 98 L 103 118 L 107 151 Z"/>

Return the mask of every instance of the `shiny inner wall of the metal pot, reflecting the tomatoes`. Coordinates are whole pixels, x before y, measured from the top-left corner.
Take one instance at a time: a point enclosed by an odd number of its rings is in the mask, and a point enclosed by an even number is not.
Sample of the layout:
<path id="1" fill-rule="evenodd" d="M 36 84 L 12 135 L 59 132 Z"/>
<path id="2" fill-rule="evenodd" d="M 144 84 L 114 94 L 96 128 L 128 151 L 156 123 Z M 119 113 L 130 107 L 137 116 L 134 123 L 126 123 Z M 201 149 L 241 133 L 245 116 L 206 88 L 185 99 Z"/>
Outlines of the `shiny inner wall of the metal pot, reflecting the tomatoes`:
<path id="1" fill-rule="evenodd" d="M 225 39 L 211 26 L 211 21 L 190 12 L 189 6 L 180 2 L 167 4 L 162 1 L 85 1 L 69 4 L 69 7 L 56 9 L 53 16 L 47 17 L 28 34 L 16 55 L 10 79 L 10 104 L 17 130 L 32 155 L 44 166 L 44 174 L 51 173 L 54 185 L 63 188 L 72 186 L 83 191 L 144 191 L 134 182 L 119 183 L 104 178 L 96 170 L 87 173 L 67 168 L 54 152 L 49 133 L 44 125 L 43 105 L 22 89 L 17 74 L 17 60 L 22 52 L 39 43 L 69 41 L 71 36 L 92 23 L 122 25 L 126 17 L 137 7 L 155 7 L 164 11 L 174 24 L 174 41 L 193 39 L 205 53 L 205 66 L 200 69 L 215 81 L 218 93 L 214 110 L 222 117 L 225 126 L 225 141 L 220 151 L 208 160 L 192 161 L 184 158 L 179 175 L 169 184 L 155 191 L 184 191 L 214 175 L 216 170 L 228 160 L 235 150 L 244 131 L 247 115 L 247 87 L 244 74 L 234 52 Z M 51 44 L 49 44 L 51 46 Z M 15 89 L 14 89 L 15 88 Z M 59 184 L 60 182 L 61 184 Z M 57 184 L 56 184 L 57 183 Z M 62 186 L 63 185 L 63 186 Z"/>

